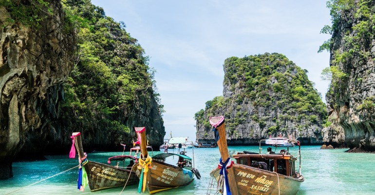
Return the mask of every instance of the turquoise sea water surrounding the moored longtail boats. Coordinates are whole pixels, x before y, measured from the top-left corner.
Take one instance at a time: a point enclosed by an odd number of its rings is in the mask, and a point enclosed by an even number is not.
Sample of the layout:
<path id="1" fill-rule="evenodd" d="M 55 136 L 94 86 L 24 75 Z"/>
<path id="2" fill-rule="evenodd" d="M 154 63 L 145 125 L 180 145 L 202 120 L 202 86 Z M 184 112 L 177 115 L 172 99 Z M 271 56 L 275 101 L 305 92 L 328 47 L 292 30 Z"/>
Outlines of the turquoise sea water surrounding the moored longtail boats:
<path id="1" fill-rule="evenodd" d="M 229 147 L 229 151 L 258 152 L 257 146 Z M 169 150 L 171 152 L 173 150 Z M 176 150 L 175 150 L 176 151 Z M 265 149 L 263 149 L 265 151 Z M 291 153 L 295 149 L 291 150 Z M 302 146 L 302 175 L 305 181 L 300 186 L 298 195 L 375 195 L 375 154 L 345 153 L 345 149 L 320 150 L 319 146 Z M 154 152 L 157 154 L 159 152 Z M 129 153 L 126 153 L 128 155 Z M 195 167 L 202 178 L 191 184 L 172 189 L 157 195 L 206 195 L 209 173 L 217 167 L 220 155 L 218 148 L 195 148 Z M 296 154 L 296 153 L 294 153 Z M 118 153 L 90 153 L 88 158 L 106 163 L 108 157 Z M 65 156 L 46 156 L 48 160 L 13 163 L 14 177 L 0 180 L 0 195 L 137 195 L 137 186 L 84 192 L 76 189 L 77 168 L 54 176 L 77 166 L 77 158 Z M 187 149 L 187 156 L 192 156 L 192 149 Z M 295 155 L 296 156 L 296 155 Z M 169 159 L 177 163 L 177 159 Z M 174 162 L 175 161 L 175 162 Z M 296 165 L 297 166 L 297 165 Z M 42 179 L 51 177 L 37 184 L 28 186 Z M 28 187 L 26 187 L 28 186 Z M 19 190 L 20 189 L 20 190 Z"/>

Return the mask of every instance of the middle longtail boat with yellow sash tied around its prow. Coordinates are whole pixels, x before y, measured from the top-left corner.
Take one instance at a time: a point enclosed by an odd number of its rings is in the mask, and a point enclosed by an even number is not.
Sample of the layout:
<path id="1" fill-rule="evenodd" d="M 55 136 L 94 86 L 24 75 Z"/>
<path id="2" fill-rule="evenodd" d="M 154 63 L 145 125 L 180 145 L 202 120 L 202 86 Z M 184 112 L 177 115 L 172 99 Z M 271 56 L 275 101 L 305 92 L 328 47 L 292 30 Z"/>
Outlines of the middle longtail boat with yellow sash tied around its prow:
<path id="1" fill-rule="evenodd" d="M 154 194 L 188 185 L 193 181 L 194 175 L 200 178 L 198 170 L 191 164 L 192 158 L 184 155 L 185 153 L 161 153 L 151 158 L 146 146 L 146 128 L 134 129 L 140 137 L 141 149 L 137 167 L 133 168 L 139 177 L 138 193 L 145 192 L 147 189 L 150 194 Z M 166 158 L 170 156 L 178 157 L 179 166 L 166 163 Z"/>

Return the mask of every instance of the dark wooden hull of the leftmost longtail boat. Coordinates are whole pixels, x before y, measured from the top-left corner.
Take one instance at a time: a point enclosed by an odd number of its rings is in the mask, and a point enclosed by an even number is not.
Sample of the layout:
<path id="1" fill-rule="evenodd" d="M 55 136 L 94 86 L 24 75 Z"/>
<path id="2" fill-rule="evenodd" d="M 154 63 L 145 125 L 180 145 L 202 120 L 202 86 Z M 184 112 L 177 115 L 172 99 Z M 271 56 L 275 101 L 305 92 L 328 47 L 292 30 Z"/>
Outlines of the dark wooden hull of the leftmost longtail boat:
<path id="1" fill-rule="evenodd" d="M 119 186 L 124 187 L 125 183 L 128 186 L 139 181 L 135 172 L 131 170 L 116 168 L 99 162 L 89 161 L 85 169 L 88 169 L 86 172 L 88 173 L 91 192 Z"/>

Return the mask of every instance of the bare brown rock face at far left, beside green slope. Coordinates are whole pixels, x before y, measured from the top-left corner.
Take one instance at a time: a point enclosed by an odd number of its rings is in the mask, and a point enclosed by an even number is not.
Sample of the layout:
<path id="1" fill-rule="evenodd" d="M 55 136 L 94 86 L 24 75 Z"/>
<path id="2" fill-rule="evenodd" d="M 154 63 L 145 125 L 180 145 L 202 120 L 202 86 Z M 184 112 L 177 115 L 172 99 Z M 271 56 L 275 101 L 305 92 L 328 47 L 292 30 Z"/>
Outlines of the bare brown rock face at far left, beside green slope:
<path id="1" fill-rule="evenodd" d="M 50 8 L 38 29 L 7 22 L 10 14 L 0 8 L 0 179 L 13 175 L 25 135 L 42 128 L 43 105 L 61 98 L 49 97 L 61 95 L 60 83 L 73 68 L 74 33 L 63 30 L 61 4 L 53 0 Z"/>

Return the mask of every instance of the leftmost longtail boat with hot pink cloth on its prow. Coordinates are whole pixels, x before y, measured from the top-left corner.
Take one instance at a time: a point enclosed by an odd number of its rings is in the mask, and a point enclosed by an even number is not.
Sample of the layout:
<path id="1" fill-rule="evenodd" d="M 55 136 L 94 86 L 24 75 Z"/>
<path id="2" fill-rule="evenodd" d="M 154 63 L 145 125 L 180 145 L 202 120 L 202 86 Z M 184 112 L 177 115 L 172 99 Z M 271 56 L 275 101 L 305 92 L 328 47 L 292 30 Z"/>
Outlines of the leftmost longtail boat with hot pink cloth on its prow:
<path id="1" fill-rule="evenodd" d="M 134 164 L 137 158 L 134 156 L 112 156 L 108 158 L 108 164 L 94 162 L 87 159 L 86 153 L 83 152 L 81 134 L 73 133 L 73 145 L 70 157 L 75 157 L 75 148 L 78 152 L 79 176 L 77 188 L 81 191 L 88 184 L 91 192 L 113 187 L 124 187 L 138 183 L 138 177 L 135 172 L 131 171 L 133 166 L 128 165 L 131 161 Z M 111 161 L 116 161 L 115 165 L 109 165 Z"/>

